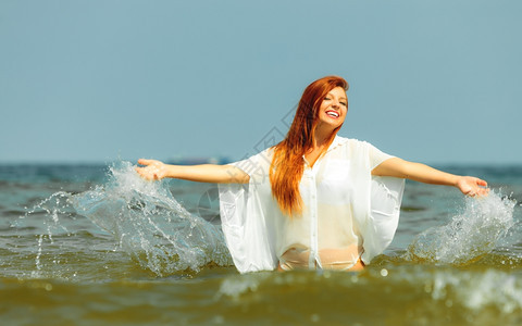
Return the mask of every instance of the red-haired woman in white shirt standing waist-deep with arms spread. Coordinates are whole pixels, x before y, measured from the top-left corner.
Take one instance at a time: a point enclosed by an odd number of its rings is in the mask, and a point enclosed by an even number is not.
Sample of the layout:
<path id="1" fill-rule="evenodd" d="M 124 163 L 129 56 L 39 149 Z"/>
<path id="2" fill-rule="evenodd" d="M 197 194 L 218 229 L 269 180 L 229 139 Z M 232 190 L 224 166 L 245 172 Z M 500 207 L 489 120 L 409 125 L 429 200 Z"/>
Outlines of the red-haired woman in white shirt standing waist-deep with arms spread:
<path id="1" fill-rule="evenodd" d="M 286 138 L 229 165 L 166 165 L 139 160 L 146 179 L 220 184 L 223 233 L 239 272 L 330 268 L 359 271 L 391 242 L 403 179 L 487 193 L 486 181 L 388 155 L 337 136 L 348 84 L 310 84 Z"/>

